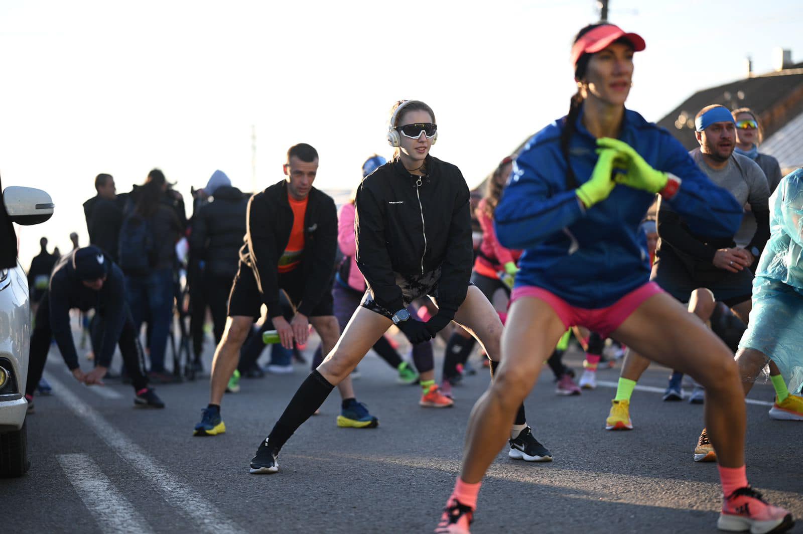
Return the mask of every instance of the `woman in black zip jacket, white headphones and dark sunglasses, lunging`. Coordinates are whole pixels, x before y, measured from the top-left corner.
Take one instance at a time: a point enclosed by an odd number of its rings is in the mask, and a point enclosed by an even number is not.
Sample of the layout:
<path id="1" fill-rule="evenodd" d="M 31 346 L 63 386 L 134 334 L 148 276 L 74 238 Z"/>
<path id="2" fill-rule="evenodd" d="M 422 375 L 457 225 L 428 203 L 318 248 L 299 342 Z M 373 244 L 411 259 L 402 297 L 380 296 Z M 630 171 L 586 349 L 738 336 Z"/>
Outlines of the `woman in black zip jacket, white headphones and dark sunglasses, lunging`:
<path id="1" fill-rule="evenodd" d="M 438 138 L 434 112 L 419 100 L 399 101 L 387 135 L 396 149 L 393 160 L 365 177 L 357 190 L 357 266 L 368 285 L 361 307 L 259 445 L 251 473 L 278 471 L 276 456 L 287 439 L 391 324 L 416 344 L 432 339 L 454 320 L 483 345 L 491 373 L 498 365 L 502 322 L 483 292 L 469 282 L 474 256 L 468 186 L 460 169 L 429 155 Z M 406 309 L 422 296 L 438 305 L 438 313 L 426 323 Z M 510 457 L 551 460 L 552 454 L 532 436 L 523 405 L 515 423 Z"/>

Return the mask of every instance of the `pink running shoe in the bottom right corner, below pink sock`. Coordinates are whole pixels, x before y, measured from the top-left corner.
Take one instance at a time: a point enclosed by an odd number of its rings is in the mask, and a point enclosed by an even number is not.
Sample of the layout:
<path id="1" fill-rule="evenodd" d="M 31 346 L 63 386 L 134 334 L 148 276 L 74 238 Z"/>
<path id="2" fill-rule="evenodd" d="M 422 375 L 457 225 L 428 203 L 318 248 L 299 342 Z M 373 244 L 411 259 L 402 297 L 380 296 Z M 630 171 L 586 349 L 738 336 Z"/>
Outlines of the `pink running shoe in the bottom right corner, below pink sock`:
<path id="1" fill-rule="evenodd" d="M 795 522 L 792 514 L 772 506 L 752 487 L 740 487 L 722 503 L 722 513 L 716 528 L 731 532 L 766 534 L 767 532 L 786 532 Z"/>

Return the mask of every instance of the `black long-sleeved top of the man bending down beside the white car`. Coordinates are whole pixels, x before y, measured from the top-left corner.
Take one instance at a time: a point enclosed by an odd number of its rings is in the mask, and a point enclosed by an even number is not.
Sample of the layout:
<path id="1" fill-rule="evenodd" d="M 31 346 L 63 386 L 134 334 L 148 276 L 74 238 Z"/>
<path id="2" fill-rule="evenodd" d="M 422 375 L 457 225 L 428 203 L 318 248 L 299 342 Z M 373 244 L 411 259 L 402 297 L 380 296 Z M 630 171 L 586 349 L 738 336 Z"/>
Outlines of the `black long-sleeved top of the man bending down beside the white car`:
<path id="1" fill-rule="evenodd" d="M 114 349 L 128 317 L 123 271 L 112 262 L 109 255 L 104 254 L 106 281 L 100 291 L 95 291 L 84 286 L 75 274 L 75 267 L 72 265 L 74 255 L 75 251 L 63 255 L 53 267 L 47 296 L 50 303 L 51 332 L 64 363 L 70 370 L 77 369 L 78 353 L 75 352 L 75 342 L 72 339 L 70 309 L 78 308 L 87 312 L 95 308 L 103 319 L 103 336 L 96 357 L 98 365 L 108 367 L 112 363 Z"/>

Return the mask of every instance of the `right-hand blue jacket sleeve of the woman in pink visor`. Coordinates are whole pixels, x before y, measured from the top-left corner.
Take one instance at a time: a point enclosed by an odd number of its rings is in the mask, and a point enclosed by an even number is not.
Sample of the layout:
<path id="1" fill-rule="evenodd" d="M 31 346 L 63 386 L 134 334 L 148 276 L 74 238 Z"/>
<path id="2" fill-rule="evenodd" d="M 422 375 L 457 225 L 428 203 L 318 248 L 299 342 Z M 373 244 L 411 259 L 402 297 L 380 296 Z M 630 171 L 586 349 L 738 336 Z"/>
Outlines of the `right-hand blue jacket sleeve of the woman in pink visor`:
<path id="1" fill-rule="evenodd" d="M 736 198 L 708 179 L 679 141 L 662 132 L 662 163 L 658 169 L 672 173 L 682 182 L 668 202 L 693 234 L 728 238 L 742 222 L 742 206 Z"/>

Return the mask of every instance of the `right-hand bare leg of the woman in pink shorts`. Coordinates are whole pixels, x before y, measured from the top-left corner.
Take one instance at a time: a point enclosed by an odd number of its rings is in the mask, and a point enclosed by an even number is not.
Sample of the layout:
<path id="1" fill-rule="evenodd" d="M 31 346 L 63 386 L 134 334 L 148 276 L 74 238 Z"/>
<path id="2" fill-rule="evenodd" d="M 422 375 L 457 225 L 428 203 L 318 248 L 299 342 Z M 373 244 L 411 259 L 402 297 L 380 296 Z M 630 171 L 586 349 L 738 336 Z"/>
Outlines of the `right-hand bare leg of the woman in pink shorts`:
<path id="1" fill-rule="evenodd" d="M 675 299 L 646 300 L 613 332 L 639 353 L 691 375 L 706 388 L 705 420 L 719 465 L 744 466 L 745 410 L 731 351 Z"/>

